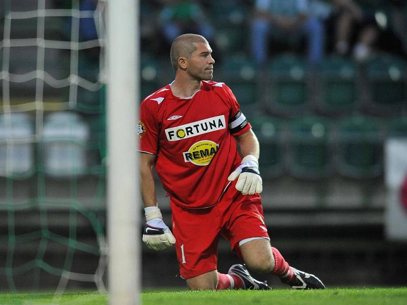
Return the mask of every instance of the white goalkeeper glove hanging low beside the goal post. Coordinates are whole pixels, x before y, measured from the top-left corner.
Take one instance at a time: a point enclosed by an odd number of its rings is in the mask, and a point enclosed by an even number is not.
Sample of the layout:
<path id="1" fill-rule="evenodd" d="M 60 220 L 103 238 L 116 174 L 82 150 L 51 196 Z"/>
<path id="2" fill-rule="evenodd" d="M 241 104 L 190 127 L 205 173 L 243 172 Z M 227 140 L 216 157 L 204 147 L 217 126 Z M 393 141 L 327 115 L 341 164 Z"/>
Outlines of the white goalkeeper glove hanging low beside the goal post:
<path id="1" fill-rule="evenodd" d="M 153 250 L 164 250 L 175 243 L 175 237 L 162 221 L 161 211 L 157 206 L 144 208 L 146 228 L 143 232 L 143 242 Z"/>

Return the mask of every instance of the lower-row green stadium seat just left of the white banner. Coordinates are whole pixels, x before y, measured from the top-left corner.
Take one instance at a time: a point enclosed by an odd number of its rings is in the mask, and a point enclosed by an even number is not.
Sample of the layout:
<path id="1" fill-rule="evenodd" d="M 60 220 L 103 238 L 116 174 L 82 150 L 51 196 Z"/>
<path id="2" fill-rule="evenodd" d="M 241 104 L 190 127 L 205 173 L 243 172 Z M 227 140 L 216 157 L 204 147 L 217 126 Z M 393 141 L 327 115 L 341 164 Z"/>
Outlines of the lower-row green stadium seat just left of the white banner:
<path id="1" fill-rule="evenodd" d="M 383 173 L 385 126 L 372 117 L 353 116 L 340 121 L 336 139 L 336 170 L 355 179 Z"/>

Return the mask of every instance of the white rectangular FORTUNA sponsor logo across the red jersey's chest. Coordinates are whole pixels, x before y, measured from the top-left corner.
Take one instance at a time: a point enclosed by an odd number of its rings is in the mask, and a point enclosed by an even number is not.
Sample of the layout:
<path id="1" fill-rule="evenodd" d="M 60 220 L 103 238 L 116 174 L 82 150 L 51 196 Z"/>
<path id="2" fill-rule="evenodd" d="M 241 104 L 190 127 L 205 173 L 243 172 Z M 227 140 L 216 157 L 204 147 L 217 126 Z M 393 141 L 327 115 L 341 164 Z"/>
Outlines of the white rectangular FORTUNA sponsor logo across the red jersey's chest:
<path id="1" fill-rule="evenodd" d="M 167 140 L 179 141 L 182 139 L 191 138 L 197 135 L 206 134 L 226 128 L 226 121 L 224 115 L 209 117 L 189 124 L 167 128 L 165 135 Z"/>

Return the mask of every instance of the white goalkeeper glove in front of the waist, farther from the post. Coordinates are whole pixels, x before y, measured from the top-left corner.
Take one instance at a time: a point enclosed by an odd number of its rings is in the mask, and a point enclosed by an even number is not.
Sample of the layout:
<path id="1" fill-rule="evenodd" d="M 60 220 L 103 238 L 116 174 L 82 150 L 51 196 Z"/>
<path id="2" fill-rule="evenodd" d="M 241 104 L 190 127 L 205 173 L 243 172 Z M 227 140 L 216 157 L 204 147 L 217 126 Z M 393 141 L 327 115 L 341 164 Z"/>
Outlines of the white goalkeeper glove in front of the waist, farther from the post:
<path id="1" fill-rule="evenodd" d="M 237 177 L 239 177 L 239 179 L 236 184 L 236 189 L 243 195 L 253 195 L 254 193 L 261 193 L 261 191 L 263 191 L 263 181 L 260 177 L 256 157 L 252 155 L 244 157 L 240 166 L 232 172 L 227 179 L 233 181 Z"/>

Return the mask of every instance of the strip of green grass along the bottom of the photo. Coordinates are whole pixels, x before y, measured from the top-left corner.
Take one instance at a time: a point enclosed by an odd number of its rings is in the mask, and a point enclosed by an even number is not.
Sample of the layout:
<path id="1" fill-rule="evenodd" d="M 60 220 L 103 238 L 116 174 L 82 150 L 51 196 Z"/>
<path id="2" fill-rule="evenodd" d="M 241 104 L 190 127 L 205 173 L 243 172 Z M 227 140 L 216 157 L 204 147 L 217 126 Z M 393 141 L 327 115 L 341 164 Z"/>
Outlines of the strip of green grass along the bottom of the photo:
<path id="1" fill-rule="evenodd" d="M 381 305 L 407 304 L 407 287 L 404 288 L 353 288 L 297 291 L 157 291 L 141 294 L 143 305 Z M 0 304 L 107 304 L 106 295 L 97 293 L 66 293 L 54 299 L 52 293 L 0 293 Z"/>

